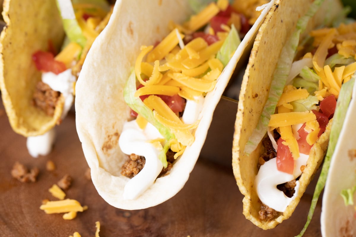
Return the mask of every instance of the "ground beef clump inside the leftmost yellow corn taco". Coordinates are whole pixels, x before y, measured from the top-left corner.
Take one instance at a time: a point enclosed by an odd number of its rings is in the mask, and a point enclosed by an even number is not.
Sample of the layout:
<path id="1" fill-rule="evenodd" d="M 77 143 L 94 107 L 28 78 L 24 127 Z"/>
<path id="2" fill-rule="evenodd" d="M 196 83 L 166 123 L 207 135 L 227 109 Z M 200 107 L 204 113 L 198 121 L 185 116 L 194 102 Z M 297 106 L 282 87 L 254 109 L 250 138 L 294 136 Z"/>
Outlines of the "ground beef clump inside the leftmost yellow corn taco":
<path id="1" fill-rule="evenodd" d="M 47 115 L 53 116 L 60 95 L 60 92 L 52 90 L 46 83 L 39 81 L 33 93 L 32 104 Z"/>

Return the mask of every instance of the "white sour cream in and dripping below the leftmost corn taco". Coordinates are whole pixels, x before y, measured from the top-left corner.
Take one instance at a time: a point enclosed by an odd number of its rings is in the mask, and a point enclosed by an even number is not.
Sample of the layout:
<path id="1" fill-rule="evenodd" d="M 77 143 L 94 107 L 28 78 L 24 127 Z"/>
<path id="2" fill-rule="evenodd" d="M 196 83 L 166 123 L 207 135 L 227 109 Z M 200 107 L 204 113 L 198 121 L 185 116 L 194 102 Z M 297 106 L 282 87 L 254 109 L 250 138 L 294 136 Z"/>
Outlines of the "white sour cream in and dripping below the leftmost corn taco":
<path id="1" fill-rule="evenodd" d="M 42 73 L 42 81 L 49 85 L 52 90 L 59 91 L 64 96 L 64 106 L 61 119 L 66 117 L 70 107 L 73 104 L 73 83 L 76 79 L 77 78 L 72 75 L 72 69 L 67 69 L 58 75 L 53 72 Z M 54 129 L 51 129 L 43 135 L 28 137 L 26 141 L 28 153 L 30 153 L 32 157 L 38 157 L 38 155 L 48 155 L 52 150 L 55 136 L 56 133 Z"/>

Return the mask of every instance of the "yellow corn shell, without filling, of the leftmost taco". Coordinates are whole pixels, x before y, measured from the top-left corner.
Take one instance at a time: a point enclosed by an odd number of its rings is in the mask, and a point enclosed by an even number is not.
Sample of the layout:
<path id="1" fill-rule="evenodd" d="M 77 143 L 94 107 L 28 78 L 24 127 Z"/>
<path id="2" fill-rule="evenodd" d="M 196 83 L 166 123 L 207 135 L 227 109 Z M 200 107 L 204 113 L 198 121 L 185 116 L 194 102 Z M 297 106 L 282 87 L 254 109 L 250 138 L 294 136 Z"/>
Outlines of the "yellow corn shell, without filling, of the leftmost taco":
<path id="1" fill-rule="evenodd" d="M 0 35 L 0 90 L 12 129 L 23 136 L 41 135 L 61 117 L 64 98 L 59 97 L 54 115 L 32 106 L 32 96 L 41 72 L 32 61 L 37 50 L 48 50 L 48 42 L 60 47 L 64 37 L 55 0 L 5 0 Z"/>

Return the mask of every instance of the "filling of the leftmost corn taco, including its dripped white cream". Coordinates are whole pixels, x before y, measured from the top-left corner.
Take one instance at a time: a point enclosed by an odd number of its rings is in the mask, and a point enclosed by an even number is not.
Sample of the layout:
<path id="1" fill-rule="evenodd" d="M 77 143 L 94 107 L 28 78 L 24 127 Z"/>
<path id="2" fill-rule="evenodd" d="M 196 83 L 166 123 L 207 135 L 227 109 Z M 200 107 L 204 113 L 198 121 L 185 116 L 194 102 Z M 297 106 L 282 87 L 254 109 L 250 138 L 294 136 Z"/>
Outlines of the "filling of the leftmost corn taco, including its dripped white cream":
<path id="1" fill-rule="evenodd" d="M 65 3 L 69 3 L 66 5 Z M 66 117 L 74 101 L 74 87 L 85 57 L 95 38 L 109 21 L 112 7 L 104 1 L 79 1 L 71 5 L 70 1 L 57 1 L 66 31 L 61 51 L 57 54 L 51 40 L 48 51 L 38 50 L 32 54 L 32 60 L 41 80 L 33 92 L 32 106 L 53 117 L 59 101 L 63 109 L 58 116 L 57 125 Z M 51 151 L 55 132 L 52 128 L 45 134 L 28 136 L 27 149 L 31 156 L 47 155 Z"/>

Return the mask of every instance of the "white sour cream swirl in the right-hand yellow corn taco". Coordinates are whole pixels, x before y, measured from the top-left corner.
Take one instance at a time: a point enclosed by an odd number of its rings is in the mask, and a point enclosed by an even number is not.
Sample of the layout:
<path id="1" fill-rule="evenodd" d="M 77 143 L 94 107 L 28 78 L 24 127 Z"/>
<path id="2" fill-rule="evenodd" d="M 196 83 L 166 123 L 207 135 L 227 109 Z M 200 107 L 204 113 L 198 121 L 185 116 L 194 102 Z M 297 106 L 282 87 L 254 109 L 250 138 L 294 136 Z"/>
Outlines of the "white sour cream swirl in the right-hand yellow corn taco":
<path id="1" fill-rule="evenodd" d="M 279 171 L 277 169 L 276 158 L 272 158 L 265 162 L 260 167 L 255 179 L 257 195 L 262 203 L 276 211 L 284 212 L 298 193 L 299 181 L 297 181 L 297 185 L 294 188 L 295 193 L 291 198 L 288 198 L 283 191 L 277 189 L 277 185 L 292 181 L 299 177 L 302 174 L 300 167 L 307 164 L 308 158 L 309 155 L 300 153 L 299 158 L 294 161 L 293 174 Z"/>

